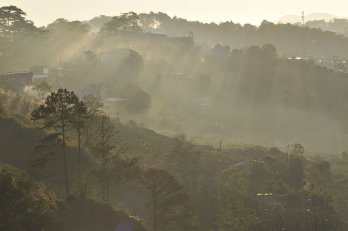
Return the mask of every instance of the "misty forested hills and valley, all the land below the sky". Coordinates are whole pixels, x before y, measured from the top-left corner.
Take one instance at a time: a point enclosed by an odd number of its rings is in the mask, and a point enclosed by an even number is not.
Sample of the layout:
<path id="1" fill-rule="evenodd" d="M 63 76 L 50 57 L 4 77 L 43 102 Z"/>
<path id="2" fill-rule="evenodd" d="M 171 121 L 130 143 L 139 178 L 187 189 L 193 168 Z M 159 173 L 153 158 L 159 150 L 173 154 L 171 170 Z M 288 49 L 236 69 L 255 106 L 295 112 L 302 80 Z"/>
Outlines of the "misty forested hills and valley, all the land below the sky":
<path id="1" fill-rule="evenodd" d="M 0 230 L 347 229 L 343 34 L 117 15 L 37 28 L 0 8 Z"/>

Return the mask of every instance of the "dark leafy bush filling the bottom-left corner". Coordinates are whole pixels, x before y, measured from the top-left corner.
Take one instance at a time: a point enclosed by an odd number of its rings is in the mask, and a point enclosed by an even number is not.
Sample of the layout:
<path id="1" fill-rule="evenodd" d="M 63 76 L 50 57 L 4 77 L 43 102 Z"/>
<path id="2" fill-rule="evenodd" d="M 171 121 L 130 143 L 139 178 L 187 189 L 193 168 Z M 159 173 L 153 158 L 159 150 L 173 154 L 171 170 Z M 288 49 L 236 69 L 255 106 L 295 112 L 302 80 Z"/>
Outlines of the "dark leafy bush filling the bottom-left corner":
<path id="1" fill-rule="evenodd" d="M 0 165 L 1 230 L 34 231 L 53 223 L 55 206 L 45 198 L 34 197 L 32 184 L 24 171 Z"/>

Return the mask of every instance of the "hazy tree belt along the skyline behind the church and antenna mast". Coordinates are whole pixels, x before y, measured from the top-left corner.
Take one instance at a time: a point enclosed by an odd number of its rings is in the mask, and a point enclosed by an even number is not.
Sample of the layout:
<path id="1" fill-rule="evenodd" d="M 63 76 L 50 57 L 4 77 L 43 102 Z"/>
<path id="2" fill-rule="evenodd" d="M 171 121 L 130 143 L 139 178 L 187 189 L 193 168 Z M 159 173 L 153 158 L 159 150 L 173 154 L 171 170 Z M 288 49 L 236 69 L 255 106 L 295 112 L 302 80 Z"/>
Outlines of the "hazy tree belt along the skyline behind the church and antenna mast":
<path id="1" fill-rule="evenodd" d="M 150 30 L 155 33 L 175 34 L 177 36 L 187 36 L 189 31 L 193 31 L 195 40 L 201 43 L 203 41 L 213 44 L 222 42 L 233 48 L 270 43 L 275 45 L 281 53 L 288 53 L 292 49 L 302 53 L 303 49 L 303 29 L 298 25 L 274 24 L 267 22 L 267 20 L 263 20 L 258 27 L 251 24 L 241 25 L 232 21 L 208 24 L 188 21 L 176 16 L 171 18 L 163 12 L 141 13 L 139 18 L 139 25 L 145 31 Z M 341 22 L 340 20 L 337 19 L 329 24 L 336 25 Z M 307 54 L 318 55 L 328 51 L 331 54 L 348 54 L 348 50 L 346 50 L 347 39 L 343 35 L 336 35 L 336 31 L 324 32 L 324 30 L 328 30 L 328 28 L 310 25 L 305 27 Z M 343 27 L 340 30 L 343 30 Z"/>

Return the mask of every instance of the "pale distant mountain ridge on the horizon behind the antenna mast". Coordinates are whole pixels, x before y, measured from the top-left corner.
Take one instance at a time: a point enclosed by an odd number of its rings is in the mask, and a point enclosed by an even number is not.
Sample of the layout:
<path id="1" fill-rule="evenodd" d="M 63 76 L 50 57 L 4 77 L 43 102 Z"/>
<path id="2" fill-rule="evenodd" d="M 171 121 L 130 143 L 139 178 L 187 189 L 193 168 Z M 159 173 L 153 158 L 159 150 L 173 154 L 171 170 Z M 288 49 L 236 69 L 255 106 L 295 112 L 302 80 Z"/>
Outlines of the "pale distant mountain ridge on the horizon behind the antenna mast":
<path id="1" fill-rule="evenodd" d="M 311 13 L 308 15 L 305 15 L 305 23 L 307 21 L 312 21 L 312 20 L 322 20 L 324 19 L 326 22 L 329 22 L 331 19 L 333 18 L 345 18 L 348 19 L 348 17 L 338 17 L 335 16 L 333 14 L 328 14 L 328 13 Z M 277 20 L 274 21 L 275 24 L 277 23 L 298 23 L 298 22 L 302 22 L 302 17 L 301 15 L 284 15 L 280 18 L 278 18 Z"/>

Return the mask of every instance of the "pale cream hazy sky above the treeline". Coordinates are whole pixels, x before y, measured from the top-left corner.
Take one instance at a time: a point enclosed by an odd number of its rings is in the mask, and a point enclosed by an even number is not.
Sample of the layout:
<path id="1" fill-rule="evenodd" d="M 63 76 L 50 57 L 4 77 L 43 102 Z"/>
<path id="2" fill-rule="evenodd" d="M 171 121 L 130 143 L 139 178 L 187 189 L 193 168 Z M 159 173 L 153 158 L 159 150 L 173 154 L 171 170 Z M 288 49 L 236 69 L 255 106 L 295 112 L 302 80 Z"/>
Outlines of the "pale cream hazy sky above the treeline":
<path id="1" fill-rule="evenodd" d="M 86 20 L 99 15 L 114 16 L 120 12 L 149 13 L 162 11 L 170 17 L 199 20 L 204 23 L 232 20 L 234 23 L 259 25 L 263 19 L 274 22 L 287 14 L 330 13 L 348 16 L 346 0 L 2 0 L 0 6 L 14 5 L 27 13 L 36 26 L 46 26 L 55 19 Z"/>

